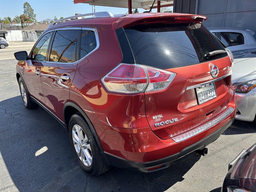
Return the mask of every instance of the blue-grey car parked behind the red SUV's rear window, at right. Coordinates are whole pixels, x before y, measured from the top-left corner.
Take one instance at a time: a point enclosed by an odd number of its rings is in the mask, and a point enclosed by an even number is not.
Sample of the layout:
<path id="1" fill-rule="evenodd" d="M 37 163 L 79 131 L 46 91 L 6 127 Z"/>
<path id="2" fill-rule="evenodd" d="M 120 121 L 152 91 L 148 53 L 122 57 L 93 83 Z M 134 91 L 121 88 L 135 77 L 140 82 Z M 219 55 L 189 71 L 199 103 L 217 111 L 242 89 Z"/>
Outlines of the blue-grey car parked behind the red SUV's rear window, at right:
<path id="1" fill-rule="evenodd" d="M 241 28 L 208 28 L 233 53 L 234 59 L 256 57 L 256 33 Z"/>

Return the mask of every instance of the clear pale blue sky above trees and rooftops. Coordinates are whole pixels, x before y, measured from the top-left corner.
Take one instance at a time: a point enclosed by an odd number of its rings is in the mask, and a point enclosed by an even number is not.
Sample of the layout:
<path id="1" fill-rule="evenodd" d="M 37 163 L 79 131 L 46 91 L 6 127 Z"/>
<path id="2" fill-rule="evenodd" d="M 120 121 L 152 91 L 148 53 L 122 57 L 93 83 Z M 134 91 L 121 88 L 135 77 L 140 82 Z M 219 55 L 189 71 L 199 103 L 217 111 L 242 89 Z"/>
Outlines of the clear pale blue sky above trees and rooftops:
<path id="1" fill-rule="evenodd" d="M 0 18 L 3 19 L 9 16 L 13 19 L 16 15 L 23 14 L 23 4 L 25 2 L 25 0 L 0 0 Z M 60 19 L 60 17 L 69 17 L 75 15 L 75 13 L 92 12 L 92 5 L 74 4 L 72 0 L 27 0 L 27 2 L 34 9 L 37 21 L 53 19 L 54 16 Z M 113 14 L 128 12 L 127 8 L 105 6 L 95 6 L 95 10 L 96 12 L 109 11 Z M 144 9 L 139 9 L 140 13 L 144 11 Z M 153 9 L 152 12 L 156 12 L 156 9 Z"/>

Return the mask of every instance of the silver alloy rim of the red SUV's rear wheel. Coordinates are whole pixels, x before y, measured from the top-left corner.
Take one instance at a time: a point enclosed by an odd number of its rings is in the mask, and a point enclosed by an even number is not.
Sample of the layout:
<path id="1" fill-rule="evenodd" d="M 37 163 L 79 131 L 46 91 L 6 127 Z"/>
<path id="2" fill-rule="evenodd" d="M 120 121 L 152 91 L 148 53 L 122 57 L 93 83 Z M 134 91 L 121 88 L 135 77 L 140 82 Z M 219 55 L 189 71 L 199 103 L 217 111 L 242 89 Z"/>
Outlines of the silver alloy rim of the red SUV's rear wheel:
<path id="1" fill-rule="evenodd" d="M 72 139 L 79 159 L 89 167 L 92 164 L 92 148 L 84 130 L 78 124 L 72 128 Z"/>

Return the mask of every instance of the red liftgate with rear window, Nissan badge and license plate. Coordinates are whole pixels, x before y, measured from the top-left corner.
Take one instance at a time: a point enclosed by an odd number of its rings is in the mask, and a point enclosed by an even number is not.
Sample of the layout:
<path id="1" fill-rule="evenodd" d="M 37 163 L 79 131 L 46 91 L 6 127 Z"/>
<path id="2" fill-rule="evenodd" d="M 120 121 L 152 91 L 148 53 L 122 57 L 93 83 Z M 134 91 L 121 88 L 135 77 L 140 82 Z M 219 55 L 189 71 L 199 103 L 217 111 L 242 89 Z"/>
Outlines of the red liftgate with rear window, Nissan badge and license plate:
<path id="1" fill-rule="evenodd" d="M 231 61 L 202 24 L 145 24 L 124 31 L 135 63 L 176 74 L 166 89 L 145 92 L 146 116 L 156 135 L 174 137 L 225 110 L 232 96 Z M 205 56 L 216 50 L 221 53 Z"/>

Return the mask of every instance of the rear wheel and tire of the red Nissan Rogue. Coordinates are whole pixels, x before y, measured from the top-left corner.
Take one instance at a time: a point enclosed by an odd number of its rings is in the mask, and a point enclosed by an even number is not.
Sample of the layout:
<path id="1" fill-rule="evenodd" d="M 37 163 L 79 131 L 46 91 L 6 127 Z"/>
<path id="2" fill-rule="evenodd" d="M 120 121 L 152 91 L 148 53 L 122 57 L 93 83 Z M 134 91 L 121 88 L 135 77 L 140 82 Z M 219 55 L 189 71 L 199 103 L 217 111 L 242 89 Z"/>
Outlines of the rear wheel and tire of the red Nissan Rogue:
<path id="1" fill-rule="evenodd" d="M 79 131 L 81 129 L 82 131 Z M 77 132 L 80 133 L 80 137 L 78 136 Z M 68 126 L 68 133 L 76 159 L 81 168 L 87 174 L 97 176 L 108 171 L 108 169 L 105 167 L 103 163 L 100 154 L 100 148 L 92 134 L 92 131 L 82 116 L 80 116 L 79 114 L 74 114 L 71 116 Z M 81 135 L 81 133 L 83 135 Z M 80 142 L 78 141 L 78 139 L 80 140 Z M 77 141 L 80 144 L 78 144 Z M 85 154 L 88 154 L 87 158 Z"/>

